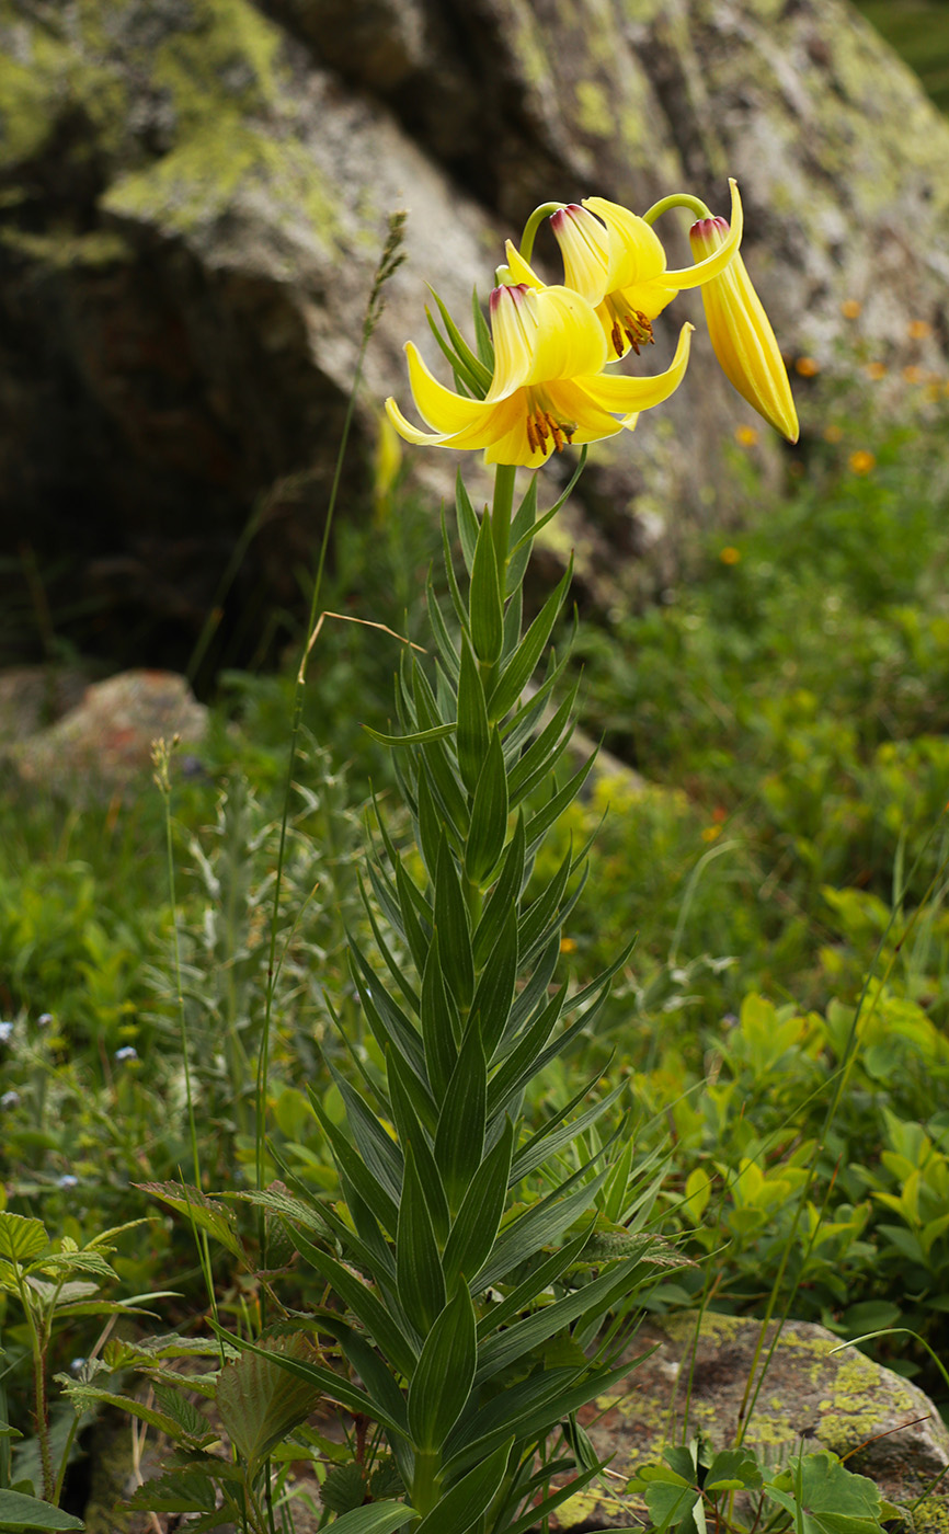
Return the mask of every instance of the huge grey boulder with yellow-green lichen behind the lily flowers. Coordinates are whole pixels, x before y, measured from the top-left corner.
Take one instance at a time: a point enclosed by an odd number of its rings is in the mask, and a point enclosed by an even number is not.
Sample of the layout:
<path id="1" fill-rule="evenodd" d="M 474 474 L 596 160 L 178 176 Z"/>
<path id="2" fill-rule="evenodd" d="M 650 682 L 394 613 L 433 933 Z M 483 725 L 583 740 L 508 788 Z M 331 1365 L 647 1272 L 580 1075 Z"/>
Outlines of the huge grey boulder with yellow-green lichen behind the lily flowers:
<path id="1" fill-rule="evenodd" d="M 299 600 L 400 206 L 346 514 L 425 284 L 466 313 L 547 198 L 642 209 L 685 186 L 725 210 L 736 173 L 790 356 L 832 367 L 843 327 L 941 367 L 947 158 L 946 121 L 842 0 L 0 0 L 0 557 L 32 545 L 80 641 L 182 666 L 253 517 L 232 601 L 253 647 Z M 664 583 L 682 528 L 728 515 L 721 445 L 751 419 L 699 330 L 684 388 L 593 454 L 563 520 L 598 600 L 629 595 L 647 546 Z M 411 462 L 448 488 L 451 456 Z"/>

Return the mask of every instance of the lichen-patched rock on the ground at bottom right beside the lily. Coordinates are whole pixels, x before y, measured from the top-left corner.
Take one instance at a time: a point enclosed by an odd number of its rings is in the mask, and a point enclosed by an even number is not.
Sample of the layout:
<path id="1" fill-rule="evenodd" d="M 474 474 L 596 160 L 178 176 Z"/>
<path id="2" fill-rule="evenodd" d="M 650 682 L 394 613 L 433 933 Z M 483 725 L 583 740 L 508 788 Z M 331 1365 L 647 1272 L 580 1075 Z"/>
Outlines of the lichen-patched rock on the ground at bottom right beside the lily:
<path id="1" fill-rule="evenodd" d="M 776 1330 L 771 1322 L 765 1351 Z M 609 1397 L 586 1408 L 596 1454 L 613 1456 L 612 1485 L 658 1460 L 665 1443 L 682 1442 L 684 1431 L 701 1433 L 714 1450 L 736 1443 L 759 1336 L 760 1322 L 719 1315 L 702 1318 L 698 1342 L 693 1316 L 650 1322 L 636 1335 L 633 1358 L 655 1351 Z M 783 1463 L 802 1445 L 805 1453 L 831 1450 L 885 1497 L 911 1503 L 949 1467 L 949 1431 L 921 1390 L 855 1348 L 832 1353 L 839 1345 L 825 1327 L 785 1324 L 745 1443 L 770 1463 Z M 560 1528 L 626 1528 L 642 1506 L 595 1483 L 560 1509 Z M 917 1528 L 949 1526 L 949 1488 L 943 1483 L 914 1519 Z"/>

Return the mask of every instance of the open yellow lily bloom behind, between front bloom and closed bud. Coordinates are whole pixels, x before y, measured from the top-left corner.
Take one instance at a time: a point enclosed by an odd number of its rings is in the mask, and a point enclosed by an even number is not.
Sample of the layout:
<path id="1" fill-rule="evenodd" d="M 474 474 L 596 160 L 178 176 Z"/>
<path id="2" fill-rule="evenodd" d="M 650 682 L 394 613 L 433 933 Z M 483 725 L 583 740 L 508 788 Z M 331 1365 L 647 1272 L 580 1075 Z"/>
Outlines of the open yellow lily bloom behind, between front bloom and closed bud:
<path id="1" fill-rule="evenodd" d="M 728 267 L 742 239 L 742 199 L 731 186 L 727 241 L 693 267 L 668 272 L 655 229 L 618 202 L 589 196 L 550 218 L 564 258 L 564 284 L 593 305 L 613 357 L 652 345 L 653 319 L 682 288 L 702 287 Z M 507 252 L 514 281 L 537 278 L 514 247 Z M 529 273 L 529 275 L 527 275 Z"/>

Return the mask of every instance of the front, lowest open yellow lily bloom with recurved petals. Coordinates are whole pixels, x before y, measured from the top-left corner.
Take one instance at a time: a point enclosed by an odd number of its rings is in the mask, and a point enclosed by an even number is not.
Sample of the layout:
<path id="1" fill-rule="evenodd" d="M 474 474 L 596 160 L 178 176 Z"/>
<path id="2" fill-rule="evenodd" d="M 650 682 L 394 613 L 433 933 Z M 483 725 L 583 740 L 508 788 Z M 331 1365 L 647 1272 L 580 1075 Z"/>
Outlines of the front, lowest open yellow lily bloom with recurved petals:
<path id="1" fill-rule="evenodd" d="M 406 442 L 484 448 L 486 463 L 538 468 L 567 443 L 599 442 L 632 430 L 641 410 L 679 387 L 691 325 L 682 327 L 667 373 L 645 379 L 609 374 L 603 371 L 606 337 L 592 305 L 567 287 L 544 287 L 530 276 L 530 284 L 501 285 L 491 295 L 495 367 L 484 399 L 445 388 L 412 342 L 406 344 L 412 399 L 432 428 L 412 426 L 388 399 L 388 417 Z"/>

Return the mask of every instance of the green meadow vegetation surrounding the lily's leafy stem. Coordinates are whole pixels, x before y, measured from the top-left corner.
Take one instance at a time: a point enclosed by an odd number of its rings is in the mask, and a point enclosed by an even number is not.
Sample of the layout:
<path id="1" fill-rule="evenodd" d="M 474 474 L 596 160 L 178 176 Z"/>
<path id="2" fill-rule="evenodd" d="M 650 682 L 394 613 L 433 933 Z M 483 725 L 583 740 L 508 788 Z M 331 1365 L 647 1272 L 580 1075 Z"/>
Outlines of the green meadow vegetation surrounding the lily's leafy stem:
<path id="1" fill-rule="evenodd" d="M 647 1309 L 788 1310 L 842 1339 L 885 1332 L 865 1348 L 944 1399 L 934 1356 L 949 1353 L 946 400 L 932 388 L 914 394 L 905 419 L 882 433 L 828 393 L 825 423 L 780 497 L 762 489 L 747 448 L 736 448 L 747 531 L 710 538 L 664 604 L 621 615 L 609 630 L 581 630 L 572 666 L 583 726 L 603 733 L 644 781 L 632 772 L 593 775 L 538 844 L 521 922 L 534 933 L 530 913 L 546 911 L 534 939 L 550 942 L 524 992 L 535 988 L 534 1008 L 552 982 L 566 982 L 575 997 L 633 936 L 636 946 L 572 1045 L 547 1060 L 543 1075 L 524 1077 L 524 1137 L 547 1126 L 557 1138 L 564 1111 L 567 1121 L 583 1121 L 570 1124 L 572 1138 L 558 1138 L 558 1154 L 514 1213 L 526 1218 L 530 1200 L 573 1177 L 596 1207 L 599 1239 L 621 1226 L 624 1239 L 632 1229 L 672 1253 L 665 1266 L 653 1264 L 638 1293 Z M 465 514 L 463 532 L 454 551 L 461 580 L 463 554 L 471 561 L 475 548 Z M 366 1138 L 356 1094 L 380 1104 L 397 1137 L 411 1106 L 389 1074 L 396 1069 L 399 1080 L 400 1068 L 368 1020 L 386 994 L 383 977 L 392 996 L 402 991 L 400 1006 L 414 1005 L 419 931 L 406 922 L 405 902 L 425 919 L 419 902 L 429 897 L 426 879 L 435 879 L 443 853 L 420 804 L 435 790 L 422 790 L 422 778 L 403 779 L 409 808 L 399 808 L 392 755 L 360 729 L 353 698 L 366 721 L 389 729 L 391 672 L 408 657 L 406 641 L 431 646 L 411 598 L 437 546 L 425 508 L 399 499 L 376 526 L 339 529 L 322 604 L 391 634 L 380 638 L 379 629 L 342 620 L 320 629 L 270 1002 L 291 680 L 222 678 L 204 775 L 187 776 L 172 756 L 175 916 L 158 788 L 80 815 L 12 773 L 0 784 L 0 1114 L 8 1210 L 26 1216 L 0 1230 L 3 1391 L 23 1434 L 12 1465 L 6 1448 L 0 1456 L 9 1497 L 28 1496 L 32 1485 L 57 1500 L 78 1442 L 64 1390 L 92 1413 L 97 1401 L 121 1397 L 144 1376 L 153 1401 L 132 1410 L 178 1443 L 186 1473 L 143 1493 L 140 1505 L 173 1511 L 192 1497 L 189 1506 L 210 1517 L 213 1490 L 193 1473 L 207 1470 L 215 1434 L 178 1388 L 182 1359 L 189 1390 L 216 1404 L 241 1448 L 241 1490 L 239 1477 L 224 1486 L 232 1514 L 244 1497 L 250 1522 L 267 1523 L 254 1499 L 270 1454 L 274 1496 L 290 1491 L 291 1463 L 310 1459 L 325 1488 L 317 1513 L 342 1519 L 369 1494 L 379 1529 L 383 1506 L 411 1480 L 411 1463 L 376 1439 L 354 1477 L 353 1445 L 325 1424 L 319 1431 L 305 1425 L 327 1362 L 340 1370 L 346 1356 L 368 1390 L 366 1399 L 363 1387 L 346 1397 L 357 1411 L 353 1442 L 366 1401 L 383 1417 L 397 1410 L 391 1390 L 402 1368 L 388 1385 L 368 1379 L 360 1339 L 319 1309 L 334 1258 L 323 1252 L 317 1261 L 322 1227 L 307 1221 L 325 1207 L 320 1200 L 339 1198 L 334 1149 L 339 1155 L 346 1124 L 385 1180 L 385 1147 Z M 448 611 L 445 586 L 442 600 Z M 566 629 L 557 653 L 566 655 Z M 414 680 L 409 672 L 403 666 L 405 726 L 438 732 L 451 687 L 432 703 L 420 672 Z M 569 672 L 555 703 L 567 695 L 567 680 Z M 553 732 L 550 749 L 560 739 Z M 435 784 L 440 758 L 431 759 Z M 567 752 L 560 782 L 576 765 Z M 474 796 L 471 762 L 465 772 Z M 374 811 L 366 813 L 371 787 L 388 850 Z M 540 779 L 527 785 L 526 813 L 537 816 L 544 799 Z M 366 834 L 382 854 L 369 874 L 374 919 L 360 897 Z M 580 854 L 590 838 L 581 888 Z M 391 884 L 396 851 L 415 896 L 408 882 Z M 468 867 L 465 851 L 458 856 Z M 491 877 L 488 868 L 484 887 Z M 363 969 L 346 968 L 348 940 L 365 956 Z M 463 974 L 455 983 L 465 991 Z M 521 1006 L 521 1023 L 529 1016 Z M 265 1035 L 261 1163 L 254 1077 Z M 412 1112 L 420 1111 L 415 1103 Z M 619 1124 L 635 1126 L 635 1137 L 610 1152 L 599 1183 L 590 1167 Z M 261 1201 L 254 1189 L 277 1178 L 271 1203 Z M 189 1190 L 195 1183 L 201 1192 Z M 452 1204 L 452 1218 L 457 1212 Z M 388 1218 L 385 1201 L 377 1215 Z M 147 1224 L 129 1227 L 143 1216 Z M 365 1276 L 379 1256 L 365 1210 L 359 1220 L 356 1267 Z M 343 1220 L 340 1250 L 350 1236 Z M 681 1258 L 695 1266 L 678 1266 Z M 527 1304 L 543 1253 L 524 1249 L 521 1261 Z M 507 1279 L 497 1282 L 503 1290 Z M 586 1316 L 586 1342 L 596 1332 L 599 1289 L 586 1310 L 572 1296 L 604 1282 L 580 1255 L 576 1272 L 555 1279 L 557 1302 Z M 380 1285 L 385 1292 L 385 1273 Z M 366 1304 L 360 1289 L 353 1295 Z M 225 1342 L 204 1325 L 212 1296 Z M 290 1325 L 297 1312 L 317 1310 L 320 1356 Z M 466 1315 L 452 1310 L 452 1338 L 443 1339 L 465 1358 Z M 282 1330 L 262 1332 L 267 1321 L 284 1322 Z M 327 1355 L 330 1324 L 336 1344 Z M 580 1368 L 570 1351 L 576 1336 L 564 1332 L 555 1345 L 538 1333 L 530 1368 L 563 1371 L 563 1385 Z M 235 1339 L 262 1339 L 264 1351 L 244 1351 L 238 1365 Z M 232 1359 L 221 1376 L 232 1396 L 215 1382 L 221 1358 Z M 512 1361 L 511 1374 L 498 1374 L 500 1396 L 524 1385 L 518 1368 Z M 49 1388 L 43 1402 L 40 1378 Z M 242 1414 L 244 1385 L 282 1402 L 268 1417 L 270 1436 L 254 1436 Z M 31 1422 L 46 1410 L 43 1442 Z M 569 1411 L 564 1419 L 572 1420 Z M 586 1474 L 589 1443 L 580 1428 L 570 1431 L 557 1453 L 563 1468 L 580 1465 Z M 446 1442 L 437 1454 L 431 1448 L 431 1485 L 415 1470 L 414 1494 L 429 1503 L 442 1474 L 451 1485 L 469 1473 L 458 1445 L 446 1451 Z M 524 1442 L 534 1442 L 529 1433 Z M 790 1470 L 762 1470 L 739 1445 L 730 1453 L 714 1460 L 701 1445 L 682 1447 L 647 1468 L 639 1490 L 653 1517 L 679 1500 L 691 1506 L 713 1474 L 727 1483 L 722 1497 L 744 1486 L 771 1511 L 793 1508 Z M 486 1463 L 500 1476 L 491 1454 Z M 872 1490 L 852 1477 L 837 1483 L 837 1470 L 826 1456 L 811 1456 L 802 1474 L 808 1485 L 837 1488 L 837 1511 L 875 1526 Z M 518 1485 L 504 1491 L 512 1509 L 521 1493 Z M 32 1516 L 54 1517 L 35 1508 Z"/>

